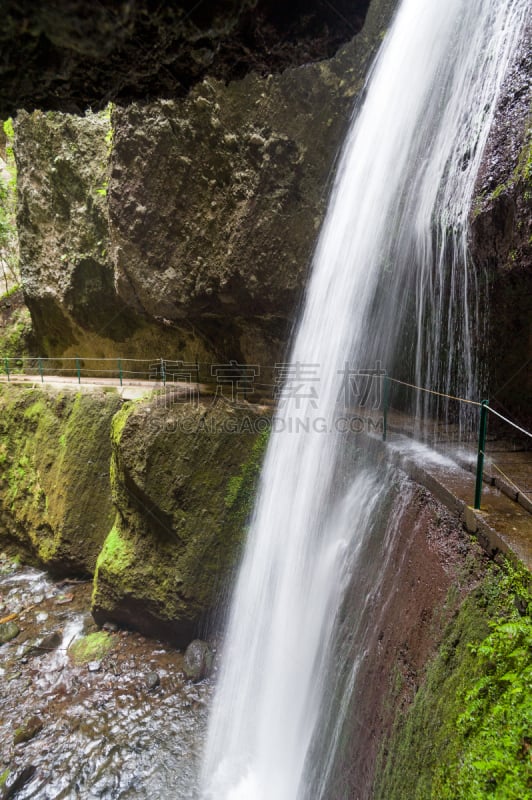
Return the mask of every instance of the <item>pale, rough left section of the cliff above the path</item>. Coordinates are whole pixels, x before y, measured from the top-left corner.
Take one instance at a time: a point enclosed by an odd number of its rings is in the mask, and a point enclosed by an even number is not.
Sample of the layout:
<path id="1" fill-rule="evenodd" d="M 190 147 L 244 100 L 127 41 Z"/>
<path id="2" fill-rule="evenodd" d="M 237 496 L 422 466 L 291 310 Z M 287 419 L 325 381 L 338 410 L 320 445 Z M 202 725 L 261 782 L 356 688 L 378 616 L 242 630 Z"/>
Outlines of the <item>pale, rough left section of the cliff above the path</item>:
<path id="1" fill-rule="evenodd" d="M 116 314 L 107 224 L 109 115 L 17 118 L 24 297 L 44 349 Z"/>

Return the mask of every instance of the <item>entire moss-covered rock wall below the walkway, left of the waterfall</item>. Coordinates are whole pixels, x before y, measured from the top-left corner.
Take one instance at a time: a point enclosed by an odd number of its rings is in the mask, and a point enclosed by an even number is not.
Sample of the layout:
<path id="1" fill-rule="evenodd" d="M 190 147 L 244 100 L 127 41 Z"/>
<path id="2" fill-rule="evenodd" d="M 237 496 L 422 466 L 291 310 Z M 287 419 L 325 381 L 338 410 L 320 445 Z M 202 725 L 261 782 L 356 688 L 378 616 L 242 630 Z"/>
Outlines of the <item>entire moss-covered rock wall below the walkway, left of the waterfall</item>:
<path id="1" fill-rule="evenodd" d="M 174 393 L 0 386 L 0 551 L 95 575 L 93 613 L 187 645 L 223 614 L 268 418 Z"/>

